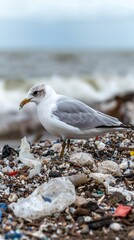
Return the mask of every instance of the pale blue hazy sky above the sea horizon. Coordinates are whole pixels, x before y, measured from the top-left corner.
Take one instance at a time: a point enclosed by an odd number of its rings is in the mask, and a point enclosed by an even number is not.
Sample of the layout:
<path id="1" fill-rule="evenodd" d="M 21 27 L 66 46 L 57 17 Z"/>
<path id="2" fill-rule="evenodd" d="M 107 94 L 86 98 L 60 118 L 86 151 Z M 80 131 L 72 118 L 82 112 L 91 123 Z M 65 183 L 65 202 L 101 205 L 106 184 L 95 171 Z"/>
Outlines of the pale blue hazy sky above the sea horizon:
<path id="1" fill-rule="evenodd" d="M 0 0 L 0 49 L 134 49 L 134 0 Z"/>

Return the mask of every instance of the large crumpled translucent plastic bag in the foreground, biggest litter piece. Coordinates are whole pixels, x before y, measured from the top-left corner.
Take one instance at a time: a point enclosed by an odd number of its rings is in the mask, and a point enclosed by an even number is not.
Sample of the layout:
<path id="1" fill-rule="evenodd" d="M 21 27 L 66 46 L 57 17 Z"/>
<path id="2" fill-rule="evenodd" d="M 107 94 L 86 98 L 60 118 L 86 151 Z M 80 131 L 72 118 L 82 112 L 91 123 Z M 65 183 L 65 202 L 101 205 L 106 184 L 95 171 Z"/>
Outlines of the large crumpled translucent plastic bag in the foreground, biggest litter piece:
<path id="1" fill-rule="evenodd" d="M 17 203 L 11 203 L 9 208 L 18 217 L 36 219 L 62 212 L 75 198 L 74 185 L 66 178 L 55 178 L 36 188 L 27 198 L 20 198 Z"/>

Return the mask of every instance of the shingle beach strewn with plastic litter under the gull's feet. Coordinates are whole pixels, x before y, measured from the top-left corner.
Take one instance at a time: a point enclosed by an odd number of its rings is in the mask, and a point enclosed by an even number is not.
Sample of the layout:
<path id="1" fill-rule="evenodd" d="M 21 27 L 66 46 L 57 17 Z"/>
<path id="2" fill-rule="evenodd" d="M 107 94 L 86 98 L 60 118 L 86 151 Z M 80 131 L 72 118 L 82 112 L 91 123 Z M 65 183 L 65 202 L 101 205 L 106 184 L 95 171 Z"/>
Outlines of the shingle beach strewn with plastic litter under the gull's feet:
<path id="1" fill-rule="evenodd" d="M 134 239 L 134 133 L 8 145 L 0 157 L 0 239 Z"/>

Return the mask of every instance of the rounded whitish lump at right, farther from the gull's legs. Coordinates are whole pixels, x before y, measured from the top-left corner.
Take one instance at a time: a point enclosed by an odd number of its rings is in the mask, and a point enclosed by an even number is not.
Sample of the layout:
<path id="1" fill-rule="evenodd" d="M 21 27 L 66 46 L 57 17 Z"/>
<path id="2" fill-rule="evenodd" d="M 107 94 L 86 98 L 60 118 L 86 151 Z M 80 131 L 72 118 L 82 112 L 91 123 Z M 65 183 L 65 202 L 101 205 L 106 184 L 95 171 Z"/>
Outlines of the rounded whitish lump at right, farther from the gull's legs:
<path id="1" fill-rule="evenodd" d="M 97 172 L 112 174 L 114 176 L 121 176 L 121 170 L 119 165 L 116 162 L 107 160 L 99 163 Z"/>

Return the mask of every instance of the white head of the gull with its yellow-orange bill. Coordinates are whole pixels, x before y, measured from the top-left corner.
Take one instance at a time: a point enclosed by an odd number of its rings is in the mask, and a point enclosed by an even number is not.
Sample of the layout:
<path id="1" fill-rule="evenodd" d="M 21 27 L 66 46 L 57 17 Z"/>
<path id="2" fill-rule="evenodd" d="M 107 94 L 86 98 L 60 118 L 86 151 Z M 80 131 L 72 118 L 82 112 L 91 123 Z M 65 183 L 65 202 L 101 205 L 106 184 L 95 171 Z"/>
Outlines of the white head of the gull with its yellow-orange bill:
<path id="1" fill-rule="evenodd" d="M 54 93 L 54 90 L 50 86 L 44 83 L 37 84 L 28 91 L 26 98 L 21 101 L 20 109 L 29 102 L 34 102 L 38 105 L 47 95 L 52 93 Z"/>

